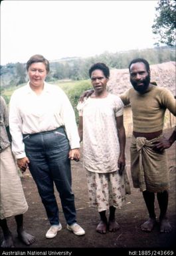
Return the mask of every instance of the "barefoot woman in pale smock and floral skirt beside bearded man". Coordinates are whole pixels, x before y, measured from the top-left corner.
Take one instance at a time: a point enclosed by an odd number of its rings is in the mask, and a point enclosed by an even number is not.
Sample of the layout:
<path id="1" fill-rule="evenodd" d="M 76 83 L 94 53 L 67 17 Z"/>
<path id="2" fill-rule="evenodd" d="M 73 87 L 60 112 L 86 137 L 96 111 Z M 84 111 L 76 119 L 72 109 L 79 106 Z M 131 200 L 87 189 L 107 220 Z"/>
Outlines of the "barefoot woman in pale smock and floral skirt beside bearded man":
<path id="1" fill-rule="evenodd" d="M 83 141 L 90 205 L 98 207 L 100 213 L 96 231 L 106 233 L 120 228 L 115 211 L 122 206 L 126 195 L 124 104 L 118 96 L 106 90 L 110 76 L 106 64 L 94 64 L 89 75 L 94 93 L 78 103 L 78 131 Z M 106 217 L 108 209 L 109 219 Z"/>

